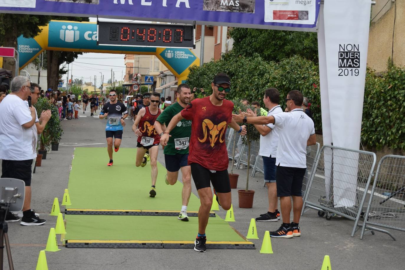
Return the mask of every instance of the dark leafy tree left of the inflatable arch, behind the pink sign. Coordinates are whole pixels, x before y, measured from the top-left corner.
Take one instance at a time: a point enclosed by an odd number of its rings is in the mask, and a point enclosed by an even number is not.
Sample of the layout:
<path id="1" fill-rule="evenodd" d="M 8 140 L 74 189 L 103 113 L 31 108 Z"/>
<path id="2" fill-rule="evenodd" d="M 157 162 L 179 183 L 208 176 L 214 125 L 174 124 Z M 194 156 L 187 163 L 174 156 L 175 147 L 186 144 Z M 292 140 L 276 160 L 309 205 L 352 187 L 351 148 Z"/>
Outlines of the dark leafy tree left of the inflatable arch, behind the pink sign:
<path id="1" fill-rule="evenodd" d="M 17 38 L 33 38 L 41 32 L 41 27 L 46 26 L 51 16 L 25 15 L 25 14 L 0 14 L 0 46 L 17 48 Z M 3 58 L 3 68 L 12 70 L 14 74 L 15 61 L 12 58 Z M 14 74 L 15 76 L 16 74 Z"/>

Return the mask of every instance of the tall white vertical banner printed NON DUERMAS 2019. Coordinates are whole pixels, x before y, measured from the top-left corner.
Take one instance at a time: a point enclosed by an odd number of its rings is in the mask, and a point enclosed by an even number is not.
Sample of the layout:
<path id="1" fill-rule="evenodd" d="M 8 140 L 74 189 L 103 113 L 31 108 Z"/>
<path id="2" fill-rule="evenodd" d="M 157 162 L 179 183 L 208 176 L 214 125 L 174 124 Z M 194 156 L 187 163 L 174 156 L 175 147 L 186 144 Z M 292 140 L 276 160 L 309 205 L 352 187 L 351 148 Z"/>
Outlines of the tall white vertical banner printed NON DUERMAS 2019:
<path id="1" fill-rule="evenodd" d="M 360 146 L 370 11 L 371 0 L 328 0 L 324 4 L 327 96 L 331 139 L 337 147 L 358 150 Z M 345 157 L 344 151 L 335 152 L 333 201 L 336 207 L 352 207 L 357 202 L 358 161 Z"/>

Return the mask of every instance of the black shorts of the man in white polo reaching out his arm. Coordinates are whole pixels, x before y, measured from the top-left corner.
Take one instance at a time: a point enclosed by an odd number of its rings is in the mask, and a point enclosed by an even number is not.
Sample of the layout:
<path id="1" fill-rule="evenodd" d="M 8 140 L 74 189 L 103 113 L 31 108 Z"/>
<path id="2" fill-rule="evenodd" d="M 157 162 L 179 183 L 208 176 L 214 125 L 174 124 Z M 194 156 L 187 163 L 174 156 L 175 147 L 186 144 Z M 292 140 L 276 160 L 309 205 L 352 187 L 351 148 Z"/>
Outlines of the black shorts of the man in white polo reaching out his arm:
<path id="1" fill-rule="evenodd" d="M 277 166 L 277 197 L 302 196 L 302 187 L 307 168 Z"/>

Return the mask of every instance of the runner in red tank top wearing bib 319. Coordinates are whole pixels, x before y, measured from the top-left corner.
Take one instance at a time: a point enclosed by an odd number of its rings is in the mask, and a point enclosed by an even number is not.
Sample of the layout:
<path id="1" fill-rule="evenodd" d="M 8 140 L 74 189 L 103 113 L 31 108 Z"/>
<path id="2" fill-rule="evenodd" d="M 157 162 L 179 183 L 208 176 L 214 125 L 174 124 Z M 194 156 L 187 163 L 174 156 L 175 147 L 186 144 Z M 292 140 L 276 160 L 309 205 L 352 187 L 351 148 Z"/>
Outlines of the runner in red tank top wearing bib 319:
<path id="1" fill-rule="evenodd" d="M 138 143 L 136 145 L 136 147 L 138 147 L 136 150 L 136 167 L 145 167 L 150 155 L 152 187 L 149 191 L 149 196 L 155 197 L 156 178 L 158 177 L 156 160 L 158 159 L 160 136 L 153 125 L 155 124 L 156 118 L 158 118 L 161 113 L 159 108 L 160 94 L 153 92 L 150 96 L 150 102 L 151 104 L 149 106 L 139 110 L 134 125 L 132 125 L 132 130 L 135 132 L 135 135 L 138 136 Z M 149 150 L 149 155 L 146 154 L 147 150 Z"/>

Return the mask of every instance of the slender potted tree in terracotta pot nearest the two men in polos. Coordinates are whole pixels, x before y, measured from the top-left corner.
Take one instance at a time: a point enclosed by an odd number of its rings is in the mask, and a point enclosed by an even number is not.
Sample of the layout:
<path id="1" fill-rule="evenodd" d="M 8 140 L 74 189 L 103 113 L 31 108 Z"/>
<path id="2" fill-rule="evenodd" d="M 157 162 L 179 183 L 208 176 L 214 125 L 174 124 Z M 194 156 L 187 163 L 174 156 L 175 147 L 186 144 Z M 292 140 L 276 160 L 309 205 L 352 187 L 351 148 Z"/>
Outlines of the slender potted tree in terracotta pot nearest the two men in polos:
<path id="1" fill-rule="evenodd" d="M 246 112 L 247 109 L 251 109 L 252 111 L 256 110 L 253 106 L 250 105 L 243 105 L 241 102 L 234 102 L 234 109 L 239 113 L 239 110 Z M 260 110 L 257 112 L 258 116 L 261 116 Z M 247 134 L 246 136 L 242 137 L 242 142 L 245 146 L 247 146 L 247 172 L 246 172 L 246 188 L 238 190 L 239 196 L 239 207 L 240 208 L 252 208 L 253 207 L 253 197 L 254 197 L 254 190 L 249 190 L 249 170 L 250 170 L 250 150 L 251 144 L 254 141 L 258 141 L 260 139 L 260 133 L 256 130 L 254 125 L 246 124 Z M 242 155 L 242 153 L 240 153 Z"/>

